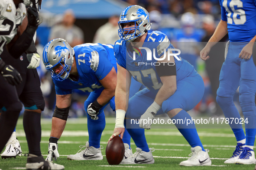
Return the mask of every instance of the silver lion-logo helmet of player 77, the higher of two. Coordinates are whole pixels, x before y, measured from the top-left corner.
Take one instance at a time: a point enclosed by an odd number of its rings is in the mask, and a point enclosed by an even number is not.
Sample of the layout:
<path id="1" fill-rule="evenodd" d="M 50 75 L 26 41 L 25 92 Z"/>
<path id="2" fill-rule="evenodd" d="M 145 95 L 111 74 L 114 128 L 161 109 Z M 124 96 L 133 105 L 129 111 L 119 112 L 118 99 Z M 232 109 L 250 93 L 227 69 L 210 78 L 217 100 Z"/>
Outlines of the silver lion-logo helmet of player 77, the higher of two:
<path id="1" fill-rule="evenodd" d="M 124 23 L 134 22 L 135 27 L 124 29 Z M 148 11 L 139 5 L 126 7 L 119 18 L 118 34 L 123 41 L 134 41 L 150 30 L 151 24 Z M 137 25 L 136 25 L 137 24 Z M 133 31 L 134 30 L 134 31 Z M 128 31 L 124 33 L 124 31 Z"/>

